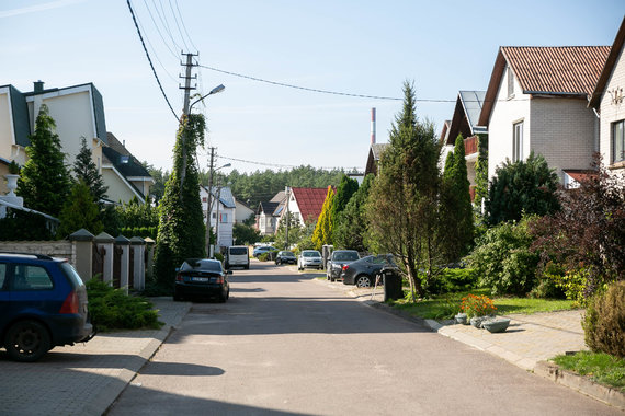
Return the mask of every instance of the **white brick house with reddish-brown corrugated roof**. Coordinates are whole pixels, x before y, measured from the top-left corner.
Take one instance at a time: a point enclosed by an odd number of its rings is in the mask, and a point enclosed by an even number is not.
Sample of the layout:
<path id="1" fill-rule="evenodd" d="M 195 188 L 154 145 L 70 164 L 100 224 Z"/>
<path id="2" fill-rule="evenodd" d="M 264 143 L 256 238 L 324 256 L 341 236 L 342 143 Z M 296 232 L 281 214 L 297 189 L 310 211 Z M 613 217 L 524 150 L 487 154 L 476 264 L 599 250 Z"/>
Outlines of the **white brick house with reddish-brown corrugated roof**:
<path id="1" fill-rule="evenodd" d="M 488 127 L 488 175 L 507 159 L 545 157 L 565 171 L 588 170 L 599 150 L 599 119 L 588 107 L 610 46 L 501 47 L 479 126 Z M 570 178 L 569 178 L 570 180 Z"/>

